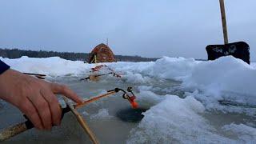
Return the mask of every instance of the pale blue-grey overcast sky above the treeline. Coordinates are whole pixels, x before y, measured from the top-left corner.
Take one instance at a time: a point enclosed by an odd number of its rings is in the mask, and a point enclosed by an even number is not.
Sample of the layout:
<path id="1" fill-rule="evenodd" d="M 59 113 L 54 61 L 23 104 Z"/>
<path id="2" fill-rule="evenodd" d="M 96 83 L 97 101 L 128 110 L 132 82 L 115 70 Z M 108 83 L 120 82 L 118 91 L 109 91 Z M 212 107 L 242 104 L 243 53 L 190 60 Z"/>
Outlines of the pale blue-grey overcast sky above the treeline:
<path id="1" fill-rule="evenodd" d="M 1 0 L 0 47 L 207 58 L 222 44 L 218 0 Z M 256 60 L 256 1 L 226 0 L 230 42 L 250 44 Z"/>

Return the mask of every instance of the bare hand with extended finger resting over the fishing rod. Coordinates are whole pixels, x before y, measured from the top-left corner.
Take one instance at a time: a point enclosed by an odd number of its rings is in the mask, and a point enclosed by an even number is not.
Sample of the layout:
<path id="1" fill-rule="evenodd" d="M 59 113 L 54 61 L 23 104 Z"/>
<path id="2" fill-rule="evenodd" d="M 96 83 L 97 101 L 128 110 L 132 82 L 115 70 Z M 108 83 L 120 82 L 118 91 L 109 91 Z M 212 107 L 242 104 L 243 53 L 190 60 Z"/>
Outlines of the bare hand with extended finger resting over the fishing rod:
<path id="1" fill-rule="evenodd" d="M 67 86 L 15 70 L 6 70 L 0 75 L 0 98 L 22 110 L 39 130 L 50 130 L 53 125 L 60 125 L 62 110 L 54 94 L 64 94 L 74 102 L 82 102 Z"/>

